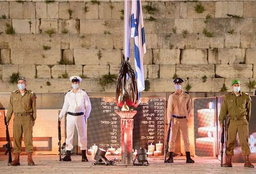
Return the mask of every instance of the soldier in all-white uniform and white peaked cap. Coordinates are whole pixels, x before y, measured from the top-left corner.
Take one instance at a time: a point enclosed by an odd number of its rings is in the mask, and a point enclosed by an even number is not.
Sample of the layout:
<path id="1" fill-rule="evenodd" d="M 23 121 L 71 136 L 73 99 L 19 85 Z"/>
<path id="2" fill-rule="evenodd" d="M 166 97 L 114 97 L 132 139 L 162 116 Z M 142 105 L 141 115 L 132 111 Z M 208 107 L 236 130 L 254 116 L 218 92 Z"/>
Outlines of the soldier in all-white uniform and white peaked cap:
<path id="1" fill-rule="evenodd" d="M 82 150 L 82 162 L 88 162 L 86 157 L 87 139 L 85 132 L 85 120 L 90 115 L 91 104 L 88 94 L 85 90 L 80 89 L 82 81 L 79 76 L 72 76 L 69 79 L 72 83 L 72 90 L 68 91 L 65 96 L 62 111 L 59 119 L 62 119 L 67 112 L 66 117 L 66 156 L 63 161 L 71 161 L 71 150 L 73 149 L 73 136 L 75 127 L 78 133 L 78 142 Z"/>

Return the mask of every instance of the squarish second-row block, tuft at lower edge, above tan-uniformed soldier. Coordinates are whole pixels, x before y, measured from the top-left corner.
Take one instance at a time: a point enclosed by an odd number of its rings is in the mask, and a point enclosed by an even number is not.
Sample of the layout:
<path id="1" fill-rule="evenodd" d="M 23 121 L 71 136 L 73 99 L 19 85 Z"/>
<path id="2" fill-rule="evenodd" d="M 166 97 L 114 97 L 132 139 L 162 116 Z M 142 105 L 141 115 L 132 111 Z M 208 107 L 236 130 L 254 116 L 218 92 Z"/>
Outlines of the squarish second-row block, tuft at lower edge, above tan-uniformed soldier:
<path id="1" fill-rule="evenodd" d="M 175 19 L 175 27 L 177 33 L 182 33 L 183 30 L 193 33 L 193 19 Z"/>

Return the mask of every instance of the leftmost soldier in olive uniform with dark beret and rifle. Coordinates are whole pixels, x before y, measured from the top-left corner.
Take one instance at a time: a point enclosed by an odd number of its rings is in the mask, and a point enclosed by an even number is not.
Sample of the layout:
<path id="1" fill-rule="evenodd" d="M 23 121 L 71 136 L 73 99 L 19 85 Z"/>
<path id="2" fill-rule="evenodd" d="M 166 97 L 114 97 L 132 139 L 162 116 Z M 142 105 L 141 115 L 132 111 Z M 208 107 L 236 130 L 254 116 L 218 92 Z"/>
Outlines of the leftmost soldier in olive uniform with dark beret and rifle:
<path id="1" fill-rule="evenodd" d="M 11 116 L 14 113 L 13 153 L 15 158 L 11 165 L 20 165 L 19 154 L 21 152 L 22 134 L 24 135 L 24 144 L 28 154 L 28 165 L 35 165 L 32 159 L 32 132 L 36 120 L 36 96 L 33 91 L 26 89 L 27 82 L 25 77 L 19 77 L 17 86 L 19 90 L 12 92 L 6 115 L 6 121 L 9 123 Z"/>

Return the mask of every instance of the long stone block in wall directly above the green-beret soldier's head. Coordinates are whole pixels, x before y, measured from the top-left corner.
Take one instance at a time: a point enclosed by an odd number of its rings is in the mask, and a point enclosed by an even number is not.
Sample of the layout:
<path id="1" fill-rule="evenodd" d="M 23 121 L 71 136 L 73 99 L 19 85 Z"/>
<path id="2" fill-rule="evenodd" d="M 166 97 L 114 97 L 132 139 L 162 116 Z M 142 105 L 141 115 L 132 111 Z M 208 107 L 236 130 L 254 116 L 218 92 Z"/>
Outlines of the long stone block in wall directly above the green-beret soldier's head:
<path id="1" fill-rule="evenodd" d="M 251 64 L 216 65 L 215 75 L 224 78 L 251 78 Z"/>

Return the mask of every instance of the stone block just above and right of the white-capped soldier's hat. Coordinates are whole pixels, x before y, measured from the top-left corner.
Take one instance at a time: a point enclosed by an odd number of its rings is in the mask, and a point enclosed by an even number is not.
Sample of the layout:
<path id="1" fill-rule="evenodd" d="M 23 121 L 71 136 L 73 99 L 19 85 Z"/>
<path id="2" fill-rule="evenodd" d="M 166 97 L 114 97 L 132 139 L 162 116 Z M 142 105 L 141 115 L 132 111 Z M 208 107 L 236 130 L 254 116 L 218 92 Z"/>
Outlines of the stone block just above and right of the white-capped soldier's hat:
<path id="1" fill-rule="evenodd" d="M 109 74 L 109 65 L 85 65 L 83 72 L 89 78 L 98 78 L 102 75 Z"/>

